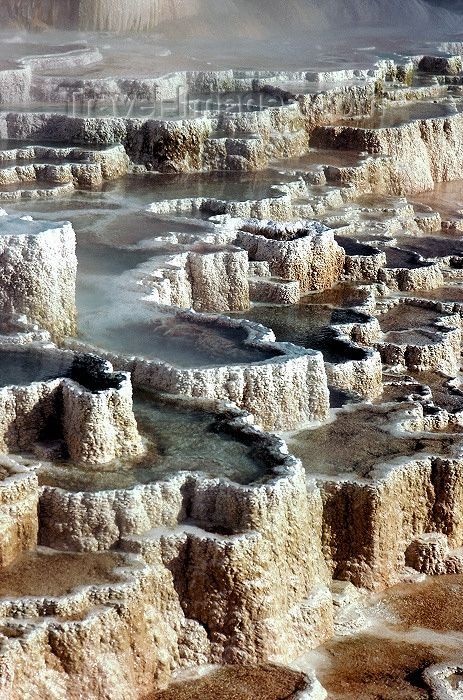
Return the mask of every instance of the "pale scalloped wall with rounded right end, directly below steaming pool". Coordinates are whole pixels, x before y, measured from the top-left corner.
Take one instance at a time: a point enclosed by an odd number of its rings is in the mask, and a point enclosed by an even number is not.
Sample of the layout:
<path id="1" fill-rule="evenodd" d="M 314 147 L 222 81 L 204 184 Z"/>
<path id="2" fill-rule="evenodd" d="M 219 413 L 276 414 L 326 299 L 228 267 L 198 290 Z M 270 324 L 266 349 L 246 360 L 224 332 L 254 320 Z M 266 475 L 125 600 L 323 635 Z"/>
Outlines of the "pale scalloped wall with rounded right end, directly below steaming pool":
<path id="1" fill-rule="evenodd" d="M 179 318 L 209 323 L 207 316 L 179 312 Z M 232 401 L 252 413 L 265 430 L 287 430 L 325 420 L 329 393 L 323 356 L 290 343 L 274 343 L 267 329 L 226 317 L 214 320 L 226 328 L 248 331 L 250 347 L 268 359 L 248 364 L 182 369 L 154 360 L 125 358 L 98 349 L 116 369 L 131 373 L 134 386 L 178 396 Z M 73 343 L 75 347 L 81 347 Z"/>

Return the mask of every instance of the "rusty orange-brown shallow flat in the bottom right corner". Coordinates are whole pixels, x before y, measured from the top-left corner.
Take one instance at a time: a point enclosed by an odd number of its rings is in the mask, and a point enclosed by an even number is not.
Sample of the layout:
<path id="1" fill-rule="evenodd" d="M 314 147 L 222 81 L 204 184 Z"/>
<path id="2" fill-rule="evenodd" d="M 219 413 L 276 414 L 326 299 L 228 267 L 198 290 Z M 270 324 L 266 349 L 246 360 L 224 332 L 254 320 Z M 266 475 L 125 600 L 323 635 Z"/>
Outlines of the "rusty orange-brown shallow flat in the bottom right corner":
<path id="1" fill-rule="evenodd" d="M 461 668 L 463 615 L 455 601 L 462 594 L 461 575 L 426 577 L 373 594 L 359 608 L 369 629 L 329 640 L 296 668 L 315 669 L 330 700 L 429 700 L 423 672 L 435 664 Z M 461 676 L 449 680 L 456 690 Z"/>

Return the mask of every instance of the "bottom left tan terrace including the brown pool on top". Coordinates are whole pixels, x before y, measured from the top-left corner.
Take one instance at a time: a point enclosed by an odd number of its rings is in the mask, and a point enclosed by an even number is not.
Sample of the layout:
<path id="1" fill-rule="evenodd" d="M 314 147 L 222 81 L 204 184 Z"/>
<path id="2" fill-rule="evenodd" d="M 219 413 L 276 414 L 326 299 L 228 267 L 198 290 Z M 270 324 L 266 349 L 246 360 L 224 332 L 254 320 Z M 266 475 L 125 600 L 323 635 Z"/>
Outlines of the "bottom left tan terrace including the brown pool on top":
<path id="1" fill-rule="evenodd" d="M 168 680 L 188 644 L 193 663 L 207 660 L 206 635 L 185 619 L 168 572 L 133 555 L 40 548 L 0 572 L 0 589 L 0 688 L 13 700 L 51 688 L 62 700 L 96 700 L 108 662 L 110 692 L 136 700 L 153 678 Z"/>

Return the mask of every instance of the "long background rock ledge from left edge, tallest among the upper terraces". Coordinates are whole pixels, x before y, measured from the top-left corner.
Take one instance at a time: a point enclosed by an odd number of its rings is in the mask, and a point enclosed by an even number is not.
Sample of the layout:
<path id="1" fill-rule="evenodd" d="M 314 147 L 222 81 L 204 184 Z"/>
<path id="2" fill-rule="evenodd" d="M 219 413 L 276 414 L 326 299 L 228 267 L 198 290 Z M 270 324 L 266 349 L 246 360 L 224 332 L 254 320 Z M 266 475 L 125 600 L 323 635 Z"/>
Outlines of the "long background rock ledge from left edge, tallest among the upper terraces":
<path id="1" fill-rule="evenodd" d="M 148 100 L 149 89 L 155 87 L 153 83 L 148 86 Z M 113 93 L 114 89 L 123 95 L 127 86 L 112 83 Z M 4 113 L 0 129 L 11 139 L 40 137 L 89 146 L 122 143 L 134 163 L 164 172 L 255 170 L 271 158 L 293 157 L 306 150 L 311 131 L 320 123 L 330 123 L 346 113 L 369 115 L 373 95 L 374 80 L 370 79 L 347 87 L 334 85 L 321 93 L 302 95 L 300 100 L 288 94 L 284 104 L 257 112 L 218 114 L 211 110 L 200 117 L 162 120 L 88 118 L 51 109 L 50 113 Z M 66 94 L 58 96 L 61 103 L 67 99 Z"/>

